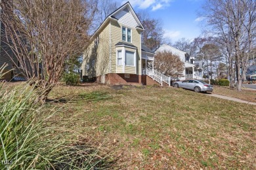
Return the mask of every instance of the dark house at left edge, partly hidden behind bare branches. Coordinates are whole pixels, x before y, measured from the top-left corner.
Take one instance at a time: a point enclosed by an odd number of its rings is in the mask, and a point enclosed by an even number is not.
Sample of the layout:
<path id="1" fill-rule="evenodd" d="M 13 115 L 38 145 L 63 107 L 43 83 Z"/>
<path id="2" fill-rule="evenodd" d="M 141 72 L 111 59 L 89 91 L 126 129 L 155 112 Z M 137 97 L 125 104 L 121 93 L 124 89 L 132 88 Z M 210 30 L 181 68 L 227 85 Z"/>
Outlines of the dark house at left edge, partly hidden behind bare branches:
<path id="1" fill-rule="evenodd" d="M 22 69 L 18 59 L 12 53 L 11 48 L 5 43 L 5 25 L 1 22 L 1 9 L 0 9 L 0 67 L 7 64 L 4 72 L 6 73 L 1 80 L 26 80 L 23 76 Z"/>

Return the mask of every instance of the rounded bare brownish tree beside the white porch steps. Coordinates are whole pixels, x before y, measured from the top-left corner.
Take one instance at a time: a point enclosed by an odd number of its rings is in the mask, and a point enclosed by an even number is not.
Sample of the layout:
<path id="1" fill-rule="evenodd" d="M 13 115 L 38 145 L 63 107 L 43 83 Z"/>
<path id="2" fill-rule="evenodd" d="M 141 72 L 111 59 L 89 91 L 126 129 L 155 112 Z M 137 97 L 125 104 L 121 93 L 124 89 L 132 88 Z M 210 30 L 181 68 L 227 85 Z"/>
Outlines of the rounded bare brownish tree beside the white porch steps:
<path id="1" fill-rule="evenodd" d="M 182 76 L 184 63 L 179 56 L 172 52 L 157 52 L 154 58 L 154 68 L 166 76 L 179 77 Z"/>

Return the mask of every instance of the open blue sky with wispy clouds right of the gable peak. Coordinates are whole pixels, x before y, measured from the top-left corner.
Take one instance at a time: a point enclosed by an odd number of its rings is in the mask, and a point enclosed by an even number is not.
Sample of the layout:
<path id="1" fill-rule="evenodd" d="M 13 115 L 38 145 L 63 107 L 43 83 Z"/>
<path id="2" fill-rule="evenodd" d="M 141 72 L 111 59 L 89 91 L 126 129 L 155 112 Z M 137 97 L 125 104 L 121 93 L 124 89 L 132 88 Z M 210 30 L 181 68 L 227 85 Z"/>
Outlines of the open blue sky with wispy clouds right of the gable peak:
<path id="1" fill-rule="evenodd" d="M 204 0 L 129 0 L 135 12 L 146 10 L 152 18 L 160 18 L 165 37 L 175 42 L 182 37 L 194 39 L 201 33 L 197 13 Z M 126 3 L 123 1 L 121 5 Z"/>

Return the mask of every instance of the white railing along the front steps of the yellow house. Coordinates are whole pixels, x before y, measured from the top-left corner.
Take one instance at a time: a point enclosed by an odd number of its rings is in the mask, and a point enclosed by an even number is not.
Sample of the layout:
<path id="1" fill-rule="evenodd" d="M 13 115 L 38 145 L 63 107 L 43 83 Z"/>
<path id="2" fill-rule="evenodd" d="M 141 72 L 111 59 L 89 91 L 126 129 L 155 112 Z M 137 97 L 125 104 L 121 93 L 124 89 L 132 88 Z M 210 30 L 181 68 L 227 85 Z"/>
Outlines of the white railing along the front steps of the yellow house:
<path id="1" fill-rule="evenodd" d="M 163 86 L 163 82 L 165 82 L 169 86 L 171 86 L 171 77 L 170 76 L 165 76 L 156 70 L 151 71 L 149 69 L 146 69 L 146 75 L 153 78 L 153 80 L 156 80 L 157 82 L 159 82 L 161 84 L 161 86 Z"/>

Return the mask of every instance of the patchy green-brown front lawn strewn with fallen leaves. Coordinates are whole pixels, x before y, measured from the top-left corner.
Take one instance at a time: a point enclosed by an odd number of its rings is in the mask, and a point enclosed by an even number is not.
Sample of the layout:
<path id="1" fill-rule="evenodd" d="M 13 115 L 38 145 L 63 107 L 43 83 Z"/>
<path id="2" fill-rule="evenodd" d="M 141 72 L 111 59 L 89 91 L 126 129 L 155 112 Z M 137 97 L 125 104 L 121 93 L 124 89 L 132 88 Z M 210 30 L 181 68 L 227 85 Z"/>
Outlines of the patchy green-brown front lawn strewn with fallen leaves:
<path id="1" fill-rule="evenodd" d="M 215 89 L 216 90 L 216 89 Z M 256 107 L 181 88 L 56 86 L 51 122 L 87 135 L 110 169 L 256 168 Z"/>

